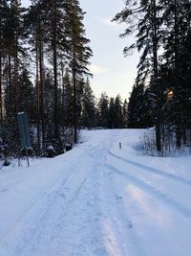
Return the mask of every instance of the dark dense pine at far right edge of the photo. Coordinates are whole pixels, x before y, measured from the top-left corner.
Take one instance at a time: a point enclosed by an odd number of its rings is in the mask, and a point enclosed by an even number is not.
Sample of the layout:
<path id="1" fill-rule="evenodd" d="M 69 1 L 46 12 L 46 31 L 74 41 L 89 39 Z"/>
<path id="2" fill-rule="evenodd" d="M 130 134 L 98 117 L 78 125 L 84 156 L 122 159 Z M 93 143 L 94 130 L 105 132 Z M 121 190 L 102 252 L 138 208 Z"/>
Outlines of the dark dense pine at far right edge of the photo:
<path id="1" fill-rule="evenodd" d="M 190 80 L 190 10 L 191 3 L 187 0 L 162 1 L 164 7 L 163 20 L 165 24 L 165 34 L 163 36 L 163 58 L 165 65 L 173 76 L 173 99 L 171 105 L 174 105 L 176 112 L 174 113 L 174 125 L 176 126 L 177 147 L 181 146 L 182 130 L 185 128 L 184 110 L 189 103 L 188 87 L 186 84 Z M 187 81 L 187 82 L 186 82 Z M 187 88 L 186 88 L 187 87 Z M 187 98 L 187 99 L 186 99 Z M 169 112 L 169 115 L 172 113 Z M 169 118 L 168 118 L 169 119 Z"/>

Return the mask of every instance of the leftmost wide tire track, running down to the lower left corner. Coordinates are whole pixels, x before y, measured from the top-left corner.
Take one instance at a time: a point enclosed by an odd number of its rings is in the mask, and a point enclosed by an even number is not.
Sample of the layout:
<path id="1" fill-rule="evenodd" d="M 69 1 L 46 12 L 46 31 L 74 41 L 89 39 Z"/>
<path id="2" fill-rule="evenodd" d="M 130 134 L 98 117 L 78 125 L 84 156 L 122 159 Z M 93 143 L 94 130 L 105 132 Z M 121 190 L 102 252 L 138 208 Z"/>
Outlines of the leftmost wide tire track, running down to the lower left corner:
<path id="1" fill-rule="evenodd" d="M 59 192 L 63 190 L 68 179 L 76 171 L 77 165 L 78 162 L 73 166 L 72 170 L 67 172 L 67 176 L 65 173 L 59 175 L 53 186 L 49 190 L 41 193 L 37 199 L 33 200 L 22 215 L 20 215 L 14 223 L 11 223 L 11 229 L 1 238 L 0 244 L 2 244 L 2 247 L 10 248 L 11 245 L 14 244 L 13 255 L 22 255 L 22 251 L 27 245 L 31 244 L 32 240 L 35 238 L 35 234 L 46 219 L 46 215 L 50 209 L 53 208 L 53 204 Z M 12 236 L 12 234 L 14 234 L 14 236 Z M 12 241 L 12 237 L 19 239 L 19 241 Z M 8 244 L 10 244 L 10 246 L 8 246 Z"/>

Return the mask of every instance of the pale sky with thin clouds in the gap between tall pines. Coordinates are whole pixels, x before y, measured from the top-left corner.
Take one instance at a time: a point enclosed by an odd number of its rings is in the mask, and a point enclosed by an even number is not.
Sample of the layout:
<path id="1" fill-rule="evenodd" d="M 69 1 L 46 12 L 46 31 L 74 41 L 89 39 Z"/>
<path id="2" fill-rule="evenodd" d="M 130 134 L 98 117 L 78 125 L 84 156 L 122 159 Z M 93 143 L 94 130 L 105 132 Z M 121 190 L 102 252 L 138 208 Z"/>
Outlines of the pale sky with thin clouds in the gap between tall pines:
<path id="1" fill-rule="evenodd" d="M 123 48 L 131 45 L 134 38 L 119 38 L 124 24 L 111 22 L 111 19 L 124 8 L 123 0 L 79 0 L 85 14 L 86 37 L 94 57 L 91 58 L 90 70 L 94 75 L 91 86 L 99 97 L 106 92 L 110 97 L 120 94 L 122 99 L 129 98 L 129 93 L 137 77 L 138 53 L 124 58 Z M 30 0 L 21 0 L 28 6 Z"/>

